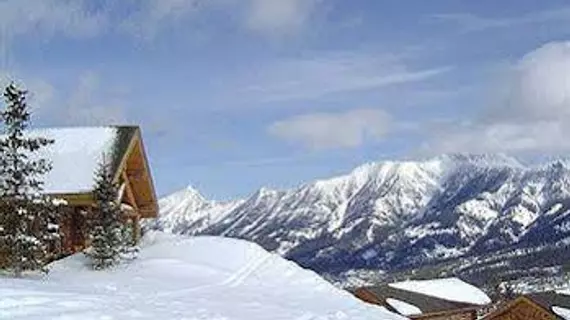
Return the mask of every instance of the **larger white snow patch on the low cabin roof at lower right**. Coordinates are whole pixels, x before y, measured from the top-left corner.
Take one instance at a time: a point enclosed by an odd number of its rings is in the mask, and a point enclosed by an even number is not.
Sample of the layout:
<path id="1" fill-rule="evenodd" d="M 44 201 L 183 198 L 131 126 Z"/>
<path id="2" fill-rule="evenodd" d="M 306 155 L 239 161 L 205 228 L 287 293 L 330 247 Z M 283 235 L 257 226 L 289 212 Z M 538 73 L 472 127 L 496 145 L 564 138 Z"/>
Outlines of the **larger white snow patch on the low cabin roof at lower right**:
<path id="1" fill-rule="evenodd" d="M 481 289 L 458 278 L 410 280 L 390 284 L 391 287 L 448 301 L 485 305 L 491 299 Z"/>

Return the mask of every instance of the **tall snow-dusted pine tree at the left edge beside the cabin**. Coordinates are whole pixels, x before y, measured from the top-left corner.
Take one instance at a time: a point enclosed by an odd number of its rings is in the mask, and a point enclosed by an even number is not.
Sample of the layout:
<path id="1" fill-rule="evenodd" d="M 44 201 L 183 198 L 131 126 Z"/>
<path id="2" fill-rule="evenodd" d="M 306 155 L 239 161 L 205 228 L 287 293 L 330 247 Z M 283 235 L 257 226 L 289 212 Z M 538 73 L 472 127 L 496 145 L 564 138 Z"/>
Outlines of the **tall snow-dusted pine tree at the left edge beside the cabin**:
<path id="1" fill-rule="evenodd" d="M 0 113 L 0 252 L 3 268 L 16 276 L 47 271 L 50 245 L 58 238 L 57 206 L 43 194 L 42 176 L 51 170 L 38 153 L 54 141 L 26 135 L 30 111 L 25 90 L 10 84 Z"/>

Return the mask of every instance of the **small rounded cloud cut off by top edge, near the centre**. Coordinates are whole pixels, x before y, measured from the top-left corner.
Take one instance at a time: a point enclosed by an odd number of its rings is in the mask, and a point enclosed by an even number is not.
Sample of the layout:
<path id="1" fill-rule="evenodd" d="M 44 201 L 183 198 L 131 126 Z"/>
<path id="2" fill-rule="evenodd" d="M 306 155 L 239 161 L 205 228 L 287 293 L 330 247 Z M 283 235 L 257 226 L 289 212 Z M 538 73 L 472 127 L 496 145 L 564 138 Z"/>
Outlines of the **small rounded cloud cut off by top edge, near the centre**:
<path id="1" fill-rule="evenodd" d="M 246 25 L 270 36 L 294 33 L 311 18 L 320 0 L 249 0 Z"/>

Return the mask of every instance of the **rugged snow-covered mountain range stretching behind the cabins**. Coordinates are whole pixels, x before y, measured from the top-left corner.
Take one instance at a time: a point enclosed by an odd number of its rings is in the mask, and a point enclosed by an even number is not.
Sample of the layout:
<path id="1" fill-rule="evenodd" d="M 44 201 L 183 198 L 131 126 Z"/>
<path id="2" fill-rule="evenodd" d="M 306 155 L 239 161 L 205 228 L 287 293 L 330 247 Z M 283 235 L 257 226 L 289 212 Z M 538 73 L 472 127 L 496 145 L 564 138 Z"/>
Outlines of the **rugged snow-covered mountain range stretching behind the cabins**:
<path id="1" fill-rule="evenodd" d="M 503 155 L 384 161 L 221 203 L 189 187 L 160 200 L 151 227 L 254 241 L 326 274 L 568 249 L 570 163 L 531 167 Z"/>

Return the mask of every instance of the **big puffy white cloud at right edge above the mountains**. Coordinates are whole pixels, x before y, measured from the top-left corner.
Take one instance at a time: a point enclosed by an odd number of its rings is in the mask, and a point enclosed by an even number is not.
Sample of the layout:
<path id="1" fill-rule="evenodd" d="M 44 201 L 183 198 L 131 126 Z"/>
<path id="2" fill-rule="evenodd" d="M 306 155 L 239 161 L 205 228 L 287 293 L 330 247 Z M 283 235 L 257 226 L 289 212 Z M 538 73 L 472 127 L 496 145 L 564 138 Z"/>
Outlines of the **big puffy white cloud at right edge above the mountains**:
<path id="1" fill-rule="evenodd" d="M 472 123 L 440 126 L 423 151 L 570 152 L 570 42 L 527 54 L 509 72 L 504 96 Z"/>

